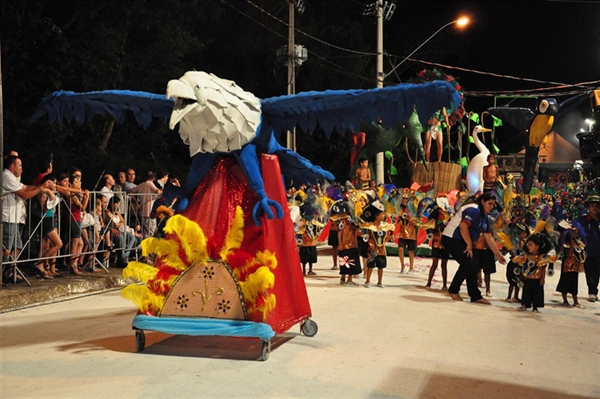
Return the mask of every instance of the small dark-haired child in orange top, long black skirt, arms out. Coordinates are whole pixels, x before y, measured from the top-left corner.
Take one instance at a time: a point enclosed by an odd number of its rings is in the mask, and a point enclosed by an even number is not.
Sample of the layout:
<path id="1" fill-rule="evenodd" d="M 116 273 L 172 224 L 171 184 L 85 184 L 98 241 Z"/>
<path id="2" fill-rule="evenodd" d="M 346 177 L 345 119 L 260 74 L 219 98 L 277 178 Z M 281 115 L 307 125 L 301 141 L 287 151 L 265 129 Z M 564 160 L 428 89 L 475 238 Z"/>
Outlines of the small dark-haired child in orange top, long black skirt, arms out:
<path id="1" fill-rule="evenodd" d="M 539 313 L 539 308 L 544 307 L 544 284 L 546 282 L 546 266 L 556 261 L 552 243 L 547 236 L 534 233 L 525 240 L 523 255 L 517 255 L 513 261 L 521 266 L 521 280 L 523 282 L 523 295 L 521 306 L 517 310 L 533 308 Z"/>

